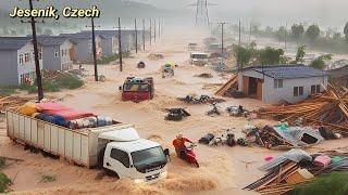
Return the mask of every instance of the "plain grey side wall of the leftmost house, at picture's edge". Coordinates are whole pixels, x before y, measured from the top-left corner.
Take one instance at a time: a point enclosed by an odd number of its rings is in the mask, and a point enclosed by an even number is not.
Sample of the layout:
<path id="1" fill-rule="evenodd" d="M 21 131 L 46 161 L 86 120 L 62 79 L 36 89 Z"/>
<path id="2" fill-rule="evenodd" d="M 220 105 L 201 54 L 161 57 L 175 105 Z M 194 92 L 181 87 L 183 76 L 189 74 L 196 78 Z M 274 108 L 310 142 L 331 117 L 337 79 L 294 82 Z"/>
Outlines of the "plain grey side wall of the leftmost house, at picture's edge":
<path id="1" fill-rule="evenodd" d="M 0 50 L 0 86 L 18 84 L 17 51 Z"/>

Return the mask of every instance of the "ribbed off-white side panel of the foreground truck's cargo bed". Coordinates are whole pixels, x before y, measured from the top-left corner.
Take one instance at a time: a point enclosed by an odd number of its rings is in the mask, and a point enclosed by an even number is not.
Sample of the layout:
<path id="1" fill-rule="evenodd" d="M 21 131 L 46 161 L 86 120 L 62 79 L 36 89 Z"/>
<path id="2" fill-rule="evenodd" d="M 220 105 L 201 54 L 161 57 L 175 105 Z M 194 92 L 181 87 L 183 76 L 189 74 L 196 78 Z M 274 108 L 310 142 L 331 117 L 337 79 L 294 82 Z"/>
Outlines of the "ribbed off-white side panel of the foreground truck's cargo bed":
<path id="1" fill-rule="evenodd" d="M 11 139 L 90 167 L 88 134 L 10 110 L 7 112 L 7 121 Z"/>

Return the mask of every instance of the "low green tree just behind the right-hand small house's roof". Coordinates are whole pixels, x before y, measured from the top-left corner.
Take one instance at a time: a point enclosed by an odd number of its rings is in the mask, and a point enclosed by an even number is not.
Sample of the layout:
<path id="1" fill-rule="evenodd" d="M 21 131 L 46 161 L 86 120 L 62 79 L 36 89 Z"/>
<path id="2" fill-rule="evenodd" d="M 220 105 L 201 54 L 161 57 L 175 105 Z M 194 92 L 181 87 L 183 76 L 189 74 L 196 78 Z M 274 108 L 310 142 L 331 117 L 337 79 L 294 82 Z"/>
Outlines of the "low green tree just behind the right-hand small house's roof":
<path id="1" fill-rule="evenodd" d="M 284 50 L 266 47 L 259 51 L 258 61 L 262 65 L 278 65 L 283 58 Z"/>

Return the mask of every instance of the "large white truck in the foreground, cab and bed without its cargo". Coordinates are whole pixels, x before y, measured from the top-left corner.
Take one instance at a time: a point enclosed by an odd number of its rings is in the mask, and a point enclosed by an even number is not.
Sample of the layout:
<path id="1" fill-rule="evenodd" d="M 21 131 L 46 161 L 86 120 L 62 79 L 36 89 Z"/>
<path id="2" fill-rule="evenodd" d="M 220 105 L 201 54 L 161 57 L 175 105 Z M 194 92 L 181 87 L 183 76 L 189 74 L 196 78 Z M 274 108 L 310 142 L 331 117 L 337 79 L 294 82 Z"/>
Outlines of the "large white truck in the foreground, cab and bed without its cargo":
<path id="1" fill-rule="evenodd" d="M 120 179 L 154 183 L 166 177 L 169 150 L 140 139 L 134 126 L 72 130 L 7 110 L 8 136 L 26 146 L 88 168 L 102 167 Z"/>

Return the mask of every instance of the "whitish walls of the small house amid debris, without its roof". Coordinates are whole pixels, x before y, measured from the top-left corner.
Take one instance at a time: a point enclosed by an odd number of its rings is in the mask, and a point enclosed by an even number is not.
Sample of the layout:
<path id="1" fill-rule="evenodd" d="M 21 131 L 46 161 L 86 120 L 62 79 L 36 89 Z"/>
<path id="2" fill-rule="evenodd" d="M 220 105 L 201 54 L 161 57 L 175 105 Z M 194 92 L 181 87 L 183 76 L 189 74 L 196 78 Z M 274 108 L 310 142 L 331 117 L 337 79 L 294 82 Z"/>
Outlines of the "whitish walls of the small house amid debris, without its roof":
<path id="1" fill-rule="evenodd" d="M 268 104 L 276 104 L 282 100 L 285 100 L 289 103 L 297 103 L 310 95 L 311 86 L 322 83 L 325 87 L 327 86 L 327 76 L 325 76 L 283 79 L 283 88 L 274 88 L 274 78 L 263 76 L 263 74 L 254 70 L 246 70 L 238 75 L 238 91 L 243 91 L 243 76 L 264 79 L 262 84 L 262 102 Z M 303 87 L 303 95 L 294 96 L 294 87 Z M 321 91 L 324 91 L 323 87 L 321 87 Z"/>

